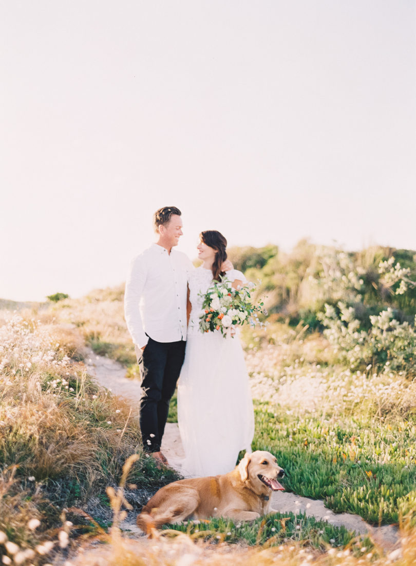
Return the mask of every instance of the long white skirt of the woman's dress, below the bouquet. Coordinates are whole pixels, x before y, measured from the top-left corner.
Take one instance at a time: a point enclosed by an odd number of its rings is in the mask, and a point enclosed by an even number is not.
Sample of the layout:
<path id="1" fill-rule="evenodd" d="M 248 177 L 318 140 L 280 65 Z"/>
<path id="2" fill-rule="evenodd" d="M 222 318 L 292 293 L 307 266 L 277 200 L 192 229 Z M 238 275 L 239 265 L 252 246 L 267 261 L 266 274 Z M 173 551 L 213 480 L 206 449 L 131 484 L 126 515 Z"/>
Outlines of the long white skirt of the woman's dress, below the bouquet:
<path id="1" fill-rule="evenodd" d="M 189 332 L 177 410 L 185 477 L 228 473 L 241 450 L 251 452 L 253 401 L 238 335 Z"/>

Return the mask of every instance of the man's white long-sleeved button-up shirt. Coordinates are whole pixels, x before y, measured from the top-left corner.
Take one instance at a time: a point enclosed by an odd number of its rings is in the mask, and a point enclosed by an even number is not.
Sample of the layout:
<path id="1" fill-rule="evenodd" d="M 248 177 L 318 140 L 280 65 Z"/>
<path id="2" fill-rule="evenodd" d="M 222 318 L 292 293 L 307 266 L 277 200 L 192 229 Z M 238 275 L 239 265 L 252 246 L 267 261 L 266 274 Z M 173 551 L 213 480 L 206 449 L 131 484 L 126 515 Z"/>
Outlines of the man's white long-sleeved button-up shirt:
<path id="1" fill-rule="evenodd" d="M 139 348 L 187 338 L 187 283 L 193 269 L 183 252 L 154 243 L 133 259 L 124 293 L 124 314 Z M 148 336 L 146 336 L 146 334 Z"/>

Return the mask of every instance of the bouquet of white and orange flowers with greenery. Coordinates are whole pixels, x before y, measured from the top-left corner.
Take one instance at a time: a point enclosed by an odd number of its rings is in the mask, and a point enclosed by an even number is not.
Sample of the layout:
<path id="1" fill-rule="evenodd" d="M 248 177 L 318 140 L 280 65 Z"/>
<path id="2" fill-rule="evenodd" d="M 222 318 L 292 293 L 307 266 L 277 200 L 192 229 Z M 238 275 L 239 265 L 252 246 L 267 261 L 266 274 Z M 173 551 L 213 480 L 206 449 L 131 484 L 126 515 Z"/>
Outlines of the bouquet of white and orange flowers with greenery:
<path id="1" fill-rule="evenodd" d="M 218 330 L 223 336 L 232 336 L 232 328 L 247 323 L 251 326 L 259 323 L 258 312 L 267 312 L 263 302 L 255 303 L 252 298 L 255 285 L 247 283 L 234 289 L 231 281 L 215 281 L 203 297 L 200 316 L 200 331 Z"/>

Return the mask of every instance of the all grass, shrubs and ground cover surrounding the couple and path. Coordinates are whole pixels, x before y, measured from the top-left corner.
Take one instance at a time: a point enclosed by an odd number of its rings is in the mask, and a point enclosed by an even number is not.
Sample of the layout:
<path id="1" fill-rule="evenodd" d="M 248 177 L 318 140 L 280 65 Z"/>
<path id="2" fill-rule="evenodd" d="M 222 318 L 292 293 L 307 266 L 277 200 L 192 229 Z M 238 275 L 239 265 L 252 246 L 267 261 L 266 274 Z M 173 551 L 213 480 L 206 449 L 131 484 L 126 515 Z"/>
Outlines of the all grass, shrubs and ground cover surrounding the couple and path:
<path id="1" fill-rule="evenodd" d="M 382 247 L 345 252 L 307 241 L 289 254 L 277 246 L 229 250 L 235 267 L 259 281 L 268 310 L 266 328 L 242 333 L 255 400 L 253 449 L 276 455 L 288 472 L 288 491 L 323 499 L 334 511 L 357 513 L 375 525 L 406 525 L 402 550 L 388 558 L 345 530 L 287 515 L 253 525 L 179 526 L 167 532 L 177 535 L 171 542 L 163 537 L 133 553 L 123 538 L 112 539 L 115 550 L 107 563 L 170 564 L 181 544 L 192 554 L 189 541 L 197 539 L 237 544 L 239 558 L 229 554 L 234 561 L 241 561 L 239 545 L 249 544 L 254 554 L 245 554 L 247 564 L 413 563 L 415 253 Z M 41 308 L 2 305 L 0 556 L 5 564 L 43 564 L 71 541 L 108 537 L 107 486 L 124 482 L 126 504 L 138 511 L 151 492 L 175 478 L 142 457 L 135 415 L 99 389 L 83 363 L 86 344 L 123 363 L 138 379 L 123 293 L 120 286 Z M 130 456 L 127 478 L 123 464 Z M 220 547 L 218 552 L 203 550 L 198 556 L 203 563 L 223 563 Z"/>

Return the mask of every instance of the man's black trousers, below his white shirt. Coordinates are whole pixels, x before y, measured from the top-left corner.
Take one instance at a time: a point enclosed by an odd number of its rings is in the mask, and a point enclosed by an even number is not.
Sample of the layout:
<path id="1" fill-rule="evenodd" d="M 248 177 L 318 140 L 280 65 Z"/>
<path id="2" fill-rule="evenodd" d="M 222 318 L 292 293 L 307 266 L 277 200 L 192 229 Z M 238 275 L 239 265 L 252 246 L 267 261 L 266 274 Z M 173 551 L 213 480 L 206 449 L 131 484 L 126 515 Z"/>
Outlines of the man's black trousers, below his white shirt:
<path id="1" fill-rule="evenodd" d="M 184 340 L 157 342 L 149 338 L 142 355 L 140 428 L 145 452 L 159 452 L 169 401 L 175 393 L 185 356 Z"/>

